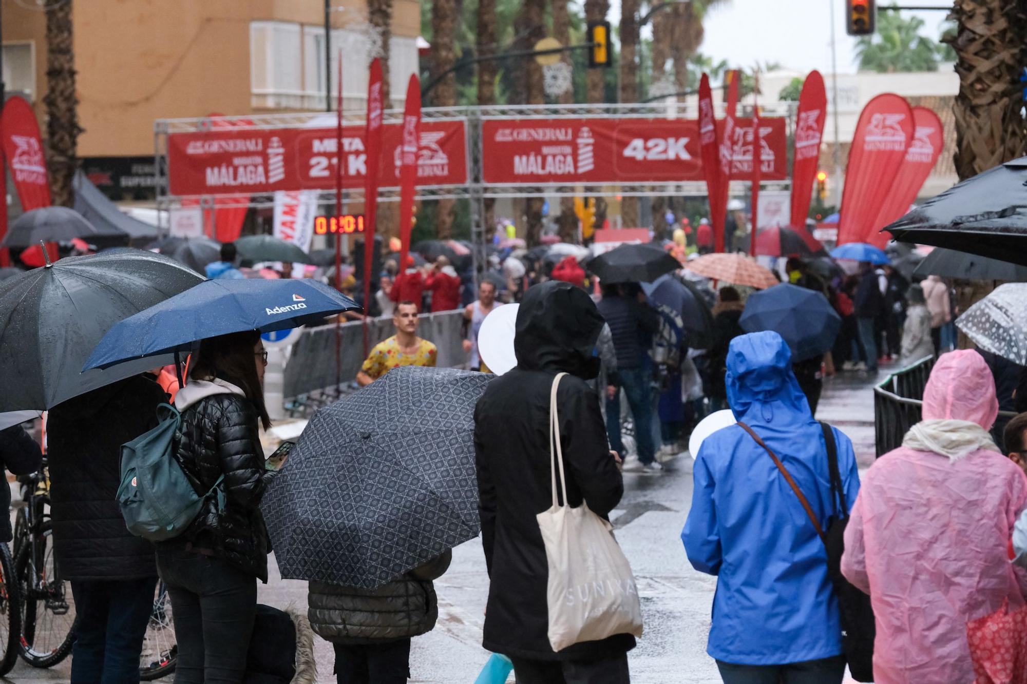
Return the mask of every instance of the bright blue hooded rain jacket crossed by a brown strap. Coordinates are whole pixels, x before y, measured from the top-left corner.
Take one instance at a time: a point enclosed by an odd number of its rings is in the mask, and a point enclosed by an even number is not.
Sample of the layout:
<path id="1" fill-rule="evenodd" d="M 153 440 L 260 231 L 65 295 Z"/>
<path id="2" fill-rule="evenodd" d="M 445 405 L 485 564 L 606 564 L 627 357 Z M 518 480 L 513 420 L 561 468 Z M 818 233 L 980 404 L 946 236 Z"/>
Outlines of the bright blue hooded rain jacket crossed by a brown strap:
<path id="1" fill-rule="evenodd" d="M 774 332 L 743 335 L 727 355 L 727 398 L 777 454 L 825 530 L 834 519 L 827 446 Z M 860 489 L 852 444 L 834 430 L 849 508 Z M 785 664 L 842 652 L 827 553 L 773 460 L 740 427 L 708 438 L 694 466 L 681 539 L 692 567 L 717 575 L 707 652 L 738 664 Z"/>

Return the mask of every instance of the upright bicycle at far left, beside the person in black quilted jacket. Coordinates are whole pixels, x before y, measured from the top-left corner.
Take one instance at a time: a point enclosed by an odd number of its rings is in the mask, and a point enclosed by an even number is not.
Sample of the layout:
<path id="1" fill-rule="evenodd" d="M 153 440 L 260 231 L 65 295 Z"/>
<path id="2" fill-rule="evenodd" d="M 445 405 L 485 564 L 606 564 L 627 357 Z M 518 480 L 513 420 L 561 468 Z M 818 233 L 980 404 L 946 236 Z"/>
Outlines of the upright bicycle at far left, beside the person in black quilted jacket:
<path id="1" fill-rule="evenodd" d="M 75 606 L 71 587 L 53 560 L 46 459 L 39 471 L 18 478 L 15 504 L 14 573 L 21 598 L 20 655 L 34 668 L 50 668 L 71 653 Z"/>

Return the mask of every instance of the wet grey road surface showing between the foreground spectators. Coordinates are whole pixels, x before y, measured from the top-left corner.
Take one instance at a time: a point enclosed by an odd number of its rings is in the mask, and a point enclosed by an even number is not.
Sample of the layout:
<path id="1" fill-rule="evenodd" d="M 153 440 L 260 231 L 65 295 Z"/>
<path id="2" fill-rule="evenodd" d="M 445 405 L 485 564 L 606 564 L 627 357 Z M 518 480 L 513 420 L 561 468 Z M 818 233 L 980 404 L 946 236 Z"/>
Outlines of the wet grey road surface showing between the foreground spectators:
<path id="1" fill-rule="evenodd" d="M 849 435 L 862 469 L 874 458 L 871 381 L 858 373 L 828 379 L 816 416 Z M 625 474 L 624 486 L 623 501 L 611 520 L 635 571 L 645 620 L 645 635 L 630 654 L 632 681 L 720 682 L 716 664 L 706 654 L 716 579 L 692 570 L 679 538 L 692 494 L 691 459 L 683 454 L 657 476 Z M 277 580 L 276 568 L 271 572 L 270 583 L 260 587 L 260 601 L 305 610 L 306 582 Z M 488 576 L 479 540 L 454 549 L 453 565 L 435 587 L 439 623 L 414 640 L 411 681 L 471 684 L 489 657 L 481 646 Z M 317 639 L 315 653 L 318 682 L 335 682 L 331 645 Z M 68 660 L 51 670 L 33 670 L 20 662 L 0 682 L 68 682 L 69 674 Z"/>

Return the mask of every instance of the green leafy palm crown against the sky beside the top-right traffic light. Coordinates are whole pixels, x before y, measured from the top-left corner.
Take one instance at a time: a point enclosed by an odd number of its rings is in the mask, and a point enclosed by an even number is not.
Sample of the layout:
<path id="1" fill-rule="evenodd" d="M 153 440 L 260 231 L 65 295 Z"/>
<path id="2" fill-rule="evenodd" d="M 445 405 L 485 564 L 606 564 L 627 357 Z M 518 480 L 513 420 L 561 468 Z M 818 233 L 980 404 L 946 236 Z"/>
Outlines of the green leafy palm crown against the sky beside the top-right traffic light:
<path id="1" fill-rule="evenodd" d="M 898 11 L 877 13 L 877 31 L 857 41 L 855 54 L 861 71 L 937 71 L 940 49 L 920 35 L 923 20 L 904 17 Z"/>

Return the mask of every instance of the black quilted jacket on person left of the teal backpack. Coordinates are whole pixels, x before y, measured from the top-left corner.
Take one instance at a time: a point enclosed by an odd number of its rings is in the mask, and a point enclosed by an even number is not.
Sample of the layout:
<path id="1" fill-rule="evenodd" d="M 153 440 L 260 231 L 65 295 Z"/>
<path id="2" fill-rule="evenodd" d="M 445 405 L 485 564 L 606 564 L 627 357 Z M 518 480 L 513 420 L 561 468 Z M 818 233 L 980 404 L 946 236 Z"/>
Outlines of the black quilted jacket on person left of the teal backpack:
<path id="1" fill-rule="evenodd" d="M 157 424 L 167 394 L 136 376 L 60 404 L 46 424 L 50 517 L 65 579 L 155 577 L 153 544 L 125 527 L 115 494 L 121 445 Z"/>

